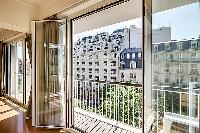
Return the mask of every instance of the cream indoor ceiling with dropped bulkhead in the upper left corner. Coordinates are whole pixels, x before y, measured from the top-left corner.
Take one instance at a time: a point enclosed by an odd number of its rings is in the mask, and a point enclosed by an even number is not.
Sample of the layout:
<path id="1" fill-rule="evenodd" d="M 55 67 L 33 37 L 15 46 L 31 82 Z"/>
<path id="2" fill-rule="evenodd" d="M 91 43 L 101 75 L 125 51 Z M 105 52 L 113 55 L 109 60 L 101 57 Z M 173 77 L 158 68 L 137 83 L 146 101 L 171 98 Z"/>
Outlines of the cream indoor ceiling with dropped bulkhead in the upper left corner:
<path id="1" fill-rule="evenodd" d="M 85 0 L 0 0 L 0 28 L 31 33 L 31 21 L 42 20 Z"/>

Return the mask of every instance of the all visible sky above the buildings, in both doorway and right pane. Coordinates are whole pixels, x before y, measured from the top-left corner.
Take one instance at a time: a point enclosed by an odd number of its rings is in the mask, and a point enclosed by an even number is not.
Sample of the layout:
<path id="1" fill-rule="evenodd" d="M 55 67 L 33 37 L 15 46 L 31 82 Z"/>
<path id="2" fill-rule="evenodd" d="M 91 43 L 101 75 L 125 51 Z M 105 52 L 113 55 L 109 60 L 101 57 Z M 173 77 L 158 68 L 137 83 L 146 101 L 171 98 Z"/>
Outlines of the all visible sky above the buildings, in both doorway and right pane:
<path id="1" fill-rule="evenodd" d="M 74 41 L 78 38 L 90 35 L 94 36 L 101 32 L 108 32 L 111 34 L 116 29 L 128 28 L 130 25 L 135 25 L 136 27 L 141 28 L 141 18 L 75 34 Z M 200 36 L 200 2 L 153 14 L 153 29 L 169 26 L 171 27 L 172 40 L 198 38 Z"/>

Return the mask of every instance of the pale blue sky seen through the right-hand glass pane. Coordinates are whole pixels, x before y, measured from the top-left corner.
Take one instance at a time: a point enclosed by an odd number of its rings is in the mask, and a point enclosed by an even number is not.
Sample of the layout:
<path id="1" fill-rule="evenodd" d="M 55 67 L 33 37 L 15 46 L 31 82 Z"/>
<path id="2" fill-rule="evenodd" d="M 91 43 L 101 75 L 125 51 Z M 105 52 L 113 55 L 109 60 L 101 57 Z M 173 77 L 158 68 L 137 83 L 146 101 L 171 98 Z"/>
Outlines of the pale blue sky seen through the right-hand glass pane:
<path id="1" fill-rule="evenodd" d="M 174 8 L 152 16 L 152 27 L 171 27 L 171 39 L 197 38 L 200 35 L 200 3 Z"/>

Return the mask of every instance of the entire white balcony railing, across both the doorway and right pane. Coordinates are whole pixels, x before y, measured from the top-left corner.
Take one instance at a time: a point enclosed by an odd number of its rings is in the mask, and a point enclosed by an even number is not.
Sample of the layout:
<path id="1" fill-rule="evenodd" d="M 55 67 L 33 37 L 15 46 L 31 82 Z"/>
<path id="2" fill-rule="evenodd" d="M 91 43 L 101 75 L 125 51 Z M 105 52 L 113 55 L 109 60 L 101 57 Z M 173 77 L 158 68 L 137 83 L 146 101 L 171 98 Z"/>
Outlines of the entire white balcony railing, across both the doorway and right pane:
<path id="1" fill-rule="evenodd" d="M 162 121 L 166 114 L 189 117 L 195 121 L 199 119 L 199 94 L 171 89 L 170 86 L 154 86 L 152 103 L 155 114 L 151 119 Z M 141 132 L 142 87 L 139 85 L 74 80 L 74 106 L 75 112 Z M 149 116 L 151 113 L 148 113 Z M 145 130 L 149 130 L 152 120 L 146 123 L 148 129 Z"/>

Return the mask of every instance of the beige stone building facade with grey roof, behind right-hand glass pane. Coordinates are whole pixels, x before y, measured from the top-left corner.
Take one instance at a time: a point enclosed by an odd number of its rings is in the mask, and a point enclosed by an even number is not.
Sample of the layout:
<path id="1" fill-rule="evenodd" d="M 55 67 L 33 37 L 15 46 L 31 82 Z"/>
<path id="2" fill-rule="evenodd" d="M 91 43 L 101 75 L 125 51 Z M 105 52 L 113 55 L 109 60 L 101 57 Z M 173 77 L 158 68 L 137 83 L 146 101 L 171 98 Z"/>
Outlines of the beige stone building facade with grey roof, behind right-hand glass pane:
<path id="1" fill-rule="evenodd" d="M 153 84 L 181 86 L 200 83 L 200 37 L 153 44 Z"/>

